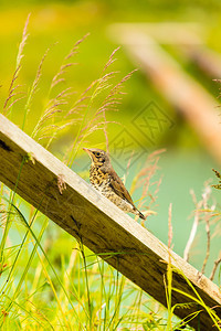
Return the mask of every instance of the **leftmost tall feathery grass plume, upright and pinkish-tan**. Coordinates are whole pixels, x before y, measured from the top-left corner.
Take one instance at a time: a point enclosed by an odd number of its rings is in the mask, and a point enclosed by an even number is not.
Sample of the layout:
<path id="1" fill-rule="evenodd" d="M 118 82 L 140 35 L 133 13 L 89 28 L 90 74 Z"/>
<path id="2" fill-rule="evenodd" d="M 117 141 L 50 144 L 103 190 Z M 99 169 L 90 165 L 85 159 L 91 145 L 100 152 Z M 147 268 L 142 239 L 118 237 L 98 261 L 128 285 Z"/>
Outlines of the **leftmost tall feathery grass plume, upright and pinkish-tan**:
<path id="1" fill-rule="evenodd" d="M 3 105 L 2 114 L 7 117 L 11 116 L 11 109 L 12 109 L 13 105 L 25 97 L 23 92 L 18 90 L 22 85 L 19 85 L 19 84 L 15 85 L 15 83 L 18 81 L 19 73 L 20 73 L 21 67 L 22 67 L 22 58 L 24 56 L 23 55 L 23 50 L 24 50 L 24 45 L 25 45 L 28 36 L 29 36 L 29 34 L 28 34 L 29 18 L 30 18 L 30 14 L 28 15 L 27 22 L 24 24 L 22 40 L 21 40 L 21 43 L 19 45 L 19 52 L 18 52 L 18 55 L 17 55 L 15 71 L 13 73 L 12 81 L 11 81 L 11 84 L 10 84 L 10 87 L 9 87 L 9 96 L 7 97 L 7 99 L 4 102 L 4 105 Z"/>

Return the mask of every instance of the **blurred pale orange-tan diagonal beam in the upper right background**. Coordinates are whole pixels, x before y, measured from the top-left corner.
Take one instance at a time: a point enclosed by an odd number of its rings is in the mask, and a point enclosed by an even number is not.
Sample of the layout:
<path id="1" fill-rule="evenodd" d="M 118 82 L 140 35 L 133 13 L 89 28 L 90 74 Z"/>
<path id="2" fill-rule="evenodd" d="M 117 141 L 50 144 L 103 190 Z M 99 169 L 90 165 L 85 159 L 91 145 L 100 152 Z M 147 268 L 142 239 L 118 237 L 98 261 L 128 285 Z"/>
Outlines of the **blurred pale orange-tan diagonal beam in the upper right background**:
<path id="1" fill-rule="evenodd" d="M 221 129 L 218 102 L 183 72 L 155 40 L 130 25 L 118 24 L 113 38 L 124 44 L 128 56 L 151 79 L 158 92 L 180 111 L 197 132 L 202 146 L 221 163 Z M 215 87 L 217 88 L 217 87 Z"/>

